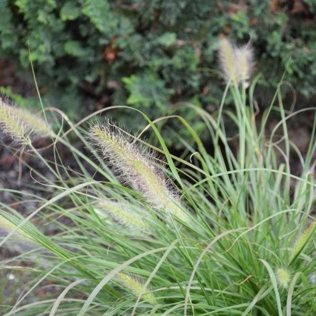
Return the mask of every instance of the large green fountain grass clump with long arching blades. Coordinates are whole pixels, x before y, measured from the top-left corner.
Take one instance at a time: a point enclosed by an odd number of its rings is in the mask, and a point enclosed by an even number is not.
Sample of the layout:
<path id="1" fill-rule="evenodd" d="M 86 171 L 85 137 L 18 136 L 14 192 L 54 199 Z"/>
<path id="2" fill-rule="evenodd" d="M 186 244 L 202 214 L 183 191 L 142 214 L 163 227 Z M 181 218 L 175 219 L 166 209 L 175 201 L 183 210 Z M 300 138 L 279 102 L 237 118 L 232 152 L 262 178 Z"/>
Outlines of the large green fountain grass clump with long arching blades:
<path id="1" fill-rule="evenodd" d="M 73 124 L 46 109 L 59 132 L 50 149 L 25 152 L 32 185 L 0 188 L 11 199 L 0 215 L 14 225 L 0 236 L 1 316 L 314 315 L 316 109 L 286 110 L 282 82 L 257 106 L 248 77 L 227 85 L 214 112 L 181 105 L 206 122 L 207 146 L 177 113 L 151 121 L 118 108 L 148 124 L 132 137 L 94 124 L 97 113 Z M 288 133 L 302 114 L 305 153 Z M 161 136 L 168 120 L 188 131 L 170 132 L 186 147 L 180 157 Z M 16 254 L 20 231 L 36 247 Z"/>

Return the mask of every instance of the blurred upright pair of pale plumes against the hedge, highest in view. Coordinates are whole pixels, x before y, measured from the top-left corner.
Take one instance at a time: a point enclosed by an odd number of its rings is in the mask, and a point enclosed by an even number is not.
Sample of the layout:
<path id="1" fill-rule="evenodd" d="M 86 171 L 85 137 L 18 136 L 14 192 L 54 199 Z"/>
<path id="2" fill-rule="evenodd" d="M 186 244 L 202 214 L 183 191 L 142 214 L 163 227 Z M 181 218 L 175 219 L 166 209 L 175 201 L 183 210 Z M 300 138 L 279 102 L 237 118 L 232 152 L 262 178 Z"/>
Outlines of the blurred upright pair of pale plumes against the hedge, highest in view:
<path id="1" fill-rule="evenodd" d="M 225 79 L 231 83 L 242 83 L 248 87 L 248 80 L 253 70 L 253 51 L 249 44 L 234 47 L 227 38 L 220 38 L 218 45 L 220 67 Z"/>

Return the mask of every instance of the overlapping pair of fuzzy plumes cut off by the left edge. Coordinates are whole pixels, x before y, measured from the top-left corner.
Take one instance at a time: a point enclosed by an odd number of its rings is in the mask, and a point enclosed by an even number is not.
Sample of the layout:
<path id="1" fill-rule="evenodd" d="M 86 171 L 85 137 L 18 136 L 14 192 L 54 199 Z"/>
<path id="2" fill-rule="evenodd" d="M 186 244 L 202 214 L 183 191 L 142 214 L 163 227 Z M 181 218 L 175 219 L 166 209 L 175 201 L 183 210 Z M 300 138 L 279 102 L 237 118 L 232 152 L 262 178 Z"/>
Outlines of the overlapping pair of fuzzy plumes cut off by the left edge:
<path id="1" fill-rule="evenodd" d="M 38 115 L 8 105 L 0 99 L 0 129 L 13 140 L 25 143 L 29 135 L 47 136 L 51 130 Z"/>

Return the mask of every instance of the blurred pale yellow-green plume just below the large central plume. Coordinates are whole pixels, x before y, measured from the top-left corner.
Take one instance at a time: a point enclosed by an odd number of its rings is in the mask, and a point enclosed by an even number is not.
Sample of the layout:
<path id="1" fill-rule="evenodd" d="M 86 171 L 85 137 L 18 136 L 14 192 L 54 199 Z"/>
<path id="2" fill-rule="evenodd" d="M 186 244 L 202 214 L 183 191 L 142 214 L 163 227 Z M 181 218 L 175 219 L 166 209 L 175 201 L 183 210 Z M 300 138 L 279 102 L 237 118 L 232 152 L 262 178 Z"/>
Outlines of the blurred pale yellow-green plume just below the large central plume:
<path id="1" fill-rule="evenodd" d="M 101 210 L 96 210 L 98 215 L 104 217 L 106 211 L 114 220 L 132 230 L 145 231 L 148 229 L 146 223 L 135 213 L 132 213 L 127 205 L 101 200 L 99 202 Z"/>

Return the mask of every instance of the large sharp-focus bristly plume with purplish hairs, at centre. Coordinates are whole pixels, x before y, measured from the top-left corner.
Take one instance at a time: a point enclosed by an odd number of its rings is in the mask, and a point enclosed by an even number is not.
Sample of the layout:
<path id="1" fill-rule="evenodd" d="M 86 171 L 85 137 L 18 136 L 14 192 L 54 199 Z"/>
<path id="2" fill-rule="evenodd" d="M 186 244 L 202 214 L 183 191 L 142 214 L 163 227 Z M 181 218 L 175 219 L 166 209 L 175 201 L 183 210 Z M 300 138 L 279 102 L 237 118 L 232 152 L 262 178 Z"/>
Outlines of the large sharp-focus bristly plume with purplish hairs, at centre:
<path id="1" fill-rule="evenodd" d="M 117 126 L 109 121 L 105 125 L 95 125 L 90 130 L 91 139 L 101 148 L 105 158 L 135 190 L 157 210 L 177 216 L 188 222 L 187 214 L 174 201 L 176 197 L 168 187 L 163 174 L 154 167 L 146 148 L 129 141 Z"/>

